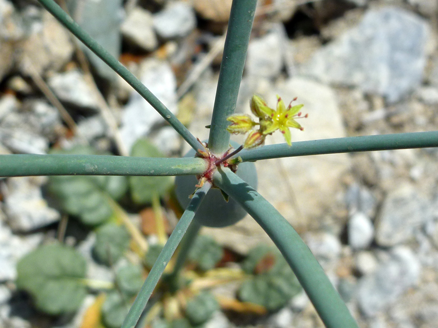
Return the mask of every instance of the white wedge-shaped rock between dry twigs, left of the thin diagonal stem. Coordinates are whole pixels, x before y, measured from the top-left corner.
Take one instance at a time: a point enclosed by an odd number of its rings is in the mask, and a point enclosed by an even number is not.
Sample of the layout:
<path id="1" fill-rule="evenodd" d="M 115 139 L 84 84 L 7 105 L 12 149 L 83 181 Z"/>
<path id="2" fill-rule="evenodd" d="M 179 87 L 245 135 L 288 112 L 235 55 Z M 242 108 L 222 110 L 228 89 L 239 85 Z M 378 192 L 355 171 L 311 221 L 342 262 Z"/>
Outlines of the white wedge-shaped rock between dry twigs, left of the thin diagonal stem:
<path id="1" fill-rule="evenodd" d="M 98 111 L 98 101 L 78 70 L 56 73 L 48 79 L 47 84 L 59 100 L 83 109 Z"/>

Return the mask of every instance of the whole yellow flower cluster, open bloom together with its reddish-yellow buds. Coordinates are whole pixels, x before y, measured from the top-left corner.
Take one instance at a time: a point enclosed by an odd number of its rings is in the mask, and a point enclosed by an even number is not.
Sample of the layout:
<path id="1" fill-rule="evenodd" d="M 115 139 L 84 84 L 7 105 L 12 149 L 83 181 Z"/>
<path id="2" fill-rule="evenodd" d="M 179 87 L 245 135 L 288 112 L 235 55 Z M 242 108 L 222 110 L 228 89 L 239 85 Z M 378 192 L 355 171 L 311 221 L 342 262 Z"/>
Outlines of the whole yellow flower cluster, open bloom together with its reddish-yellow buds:
<path id="1" fill-rule="evenodd" d="M 286 108 L 283 100 L 277 95 L 277 108 L 268 107 L 266 102 L 259 96 L 254 95 L 251 98 L 251 112 L 258 117 L 258 123 L 253 121 L 249 115 L 234 114 L 227 118 L 231 124 L 227 127 L 227 131 L 234 134 L 245 134 L 250 132 L 243 144 L 243 148 L 254 148 L 262 145 L 265 142 L 267 135 L 272 135 L 276 130 L 283 133 L 284 138 L 289 146 L 292 146 L 291 131 L 289 128 L 303 130 L 303 127 L 295 121 L 300 117 L 308 117 L 308 114 L 301 116 L 300 109 L 302 104 Z M 258 125 L 258 128 L 256 127 Z"/>

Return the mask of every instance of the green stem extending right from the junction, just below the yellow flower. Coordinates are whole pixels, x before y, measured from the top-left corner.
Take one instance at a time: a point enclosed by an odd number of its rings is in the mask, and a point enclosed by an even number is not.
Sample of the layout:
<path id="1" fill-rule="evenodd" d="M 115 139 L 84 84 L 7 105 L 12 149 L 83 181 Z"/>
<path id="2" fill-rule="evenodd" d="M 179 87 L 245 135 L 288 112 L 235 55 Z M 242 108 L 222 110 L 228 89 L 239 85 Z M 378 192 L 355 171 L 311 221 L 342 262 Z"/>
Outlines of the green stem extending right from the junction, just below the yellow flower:
<path id="1" fill-rule="evenodd" d="M 426 147 L 438 147 L 438 131 L 296 141 L 292 147 L 281 143 L 252 150 L 244 149 L 239 156 L 248 162 L 279 157 Z"/>

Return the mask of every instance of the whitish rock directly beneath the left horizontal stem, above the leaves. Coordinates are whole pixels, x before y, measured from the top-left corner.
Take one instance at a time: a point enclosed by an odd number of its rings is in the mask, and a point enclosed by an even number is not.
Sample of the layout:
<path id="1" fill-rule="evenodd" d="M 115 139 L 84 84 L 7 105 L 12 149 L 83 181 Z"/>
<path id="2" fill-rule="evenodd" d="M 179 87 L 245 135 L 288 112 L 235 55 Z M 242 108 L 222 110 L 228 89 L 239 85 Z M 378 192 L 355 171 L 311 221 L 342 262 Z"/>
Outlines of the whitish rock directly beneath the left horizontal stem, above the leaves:
<path id="1" fill-rule="evenodd" d="M 60 219 L 41 194 L 41 178 L 13 177 L 7 180 L 4 211 L 14 231 L 29 232 Z"/>

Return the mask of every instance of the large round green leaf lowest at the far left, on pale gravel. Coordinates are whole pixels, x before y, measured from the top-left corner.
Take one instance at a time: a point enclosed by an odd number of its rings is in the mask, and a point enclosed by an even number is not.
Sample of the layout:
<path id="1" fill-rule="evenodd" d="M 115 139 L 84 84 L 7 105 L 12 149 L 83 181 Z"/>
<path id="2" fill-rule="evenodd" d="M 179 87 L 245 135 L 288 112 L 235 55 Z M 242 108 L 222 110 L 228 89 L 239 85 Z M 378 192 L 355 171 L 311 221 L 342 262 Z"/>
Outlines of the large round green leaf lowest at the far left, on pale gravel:
<path id="1" fill-rule="evenodd" d="M 49 314 L 76 311 L 87 290 L 86 260 L 73 248 L 45 245 L 20 259 L 17 287 L 32 295 L 35 305 Z"/>

